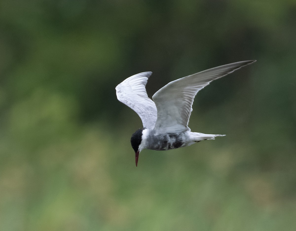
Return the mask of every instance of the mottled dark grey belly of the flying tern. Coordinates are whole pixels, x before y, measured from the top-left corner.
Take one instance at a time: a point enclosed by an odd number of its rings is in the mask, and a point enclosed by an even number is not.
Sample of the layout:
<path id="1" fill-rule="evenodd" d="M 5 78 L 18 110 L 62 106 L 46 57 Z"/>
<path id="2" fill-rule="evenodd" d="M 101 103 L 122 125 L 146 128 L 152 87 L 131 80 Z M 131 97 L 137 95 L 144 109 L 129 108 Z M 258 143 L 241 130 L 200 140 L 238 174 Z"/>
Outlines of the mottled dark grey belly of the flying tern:
<path id="1" fill-rule="evenodd" d="M 170 149 L 176 149 L 179 147 L 182 147 L 184 144 L 183 140 L 183 134 L 175 134 L 175 133 L 166 133 L 166 134 L 160 134 L 156 135 L 152 138 L 151 145 L 152 147 L 149 147 L 149 149 L 152 150 L 170 150 Z"/>

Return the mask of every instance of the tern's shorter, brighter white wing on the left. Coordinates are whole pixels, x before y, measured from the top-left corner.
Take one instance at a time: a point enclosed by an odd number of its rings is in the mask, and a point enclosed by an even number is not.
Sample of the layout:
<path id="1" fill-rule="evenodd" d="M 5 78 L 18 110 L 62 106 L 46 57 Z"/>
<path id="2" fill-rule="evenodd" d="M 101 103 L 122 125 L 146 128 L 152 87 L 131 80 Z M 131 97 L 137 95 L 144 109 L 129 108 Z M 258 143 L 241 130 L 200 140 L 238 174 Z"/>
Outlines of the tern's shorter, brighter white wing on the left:
<path id="1" fill-rule="evenodd" d="M 153 128 L 157 118 L 155 103 L 148 97 L 145 88 L 151 74 L 151 71 L 135 74 L 115 88 L 117 99 L 133 109 L 146 128 Z"/>

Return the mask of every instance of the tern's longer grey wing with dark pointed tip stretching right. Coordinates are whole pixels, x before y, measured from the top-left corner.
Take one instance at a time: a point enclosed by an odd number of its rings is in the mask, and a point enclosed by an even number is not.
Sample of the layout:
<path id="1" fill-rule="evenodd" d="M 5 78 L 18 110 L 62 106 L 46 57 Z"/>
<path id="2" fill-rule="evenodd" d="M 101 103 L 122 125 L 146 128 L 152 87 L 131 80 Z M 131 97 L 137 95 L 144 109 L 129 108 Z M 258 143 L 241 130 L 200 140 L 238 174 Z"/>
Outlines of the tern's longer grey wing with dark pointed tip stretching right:
<path id="1" fill-rule="evenodd" d="M 213 80 L 255 61 L 241 61 L 217 66 L 174 80 L 162 87 L 152 96 L 157 108 L 155 129 L 167 131 L 188 129 L 192 103 L 197 92 Z"/>

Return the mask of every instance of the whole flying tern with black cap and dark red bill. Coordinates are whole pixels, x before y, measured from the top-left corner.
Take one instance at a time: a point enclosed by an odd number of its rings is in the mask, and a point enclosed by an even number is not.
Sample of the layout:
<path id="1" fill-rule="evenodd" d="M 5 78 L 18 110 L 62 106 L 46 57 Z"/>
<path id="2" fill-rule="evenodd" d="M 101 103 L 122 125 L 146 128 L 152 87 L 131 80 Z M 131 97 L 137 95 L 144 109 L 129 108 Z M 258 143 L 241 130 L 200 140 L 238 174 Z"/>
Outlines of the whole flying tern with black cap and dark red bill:
<path id="1" fill-rule="evenodd" d="M 141 72 L 117 85 L 120 102 L 133 109 L 141 118 L 143 127 L 131 136 L 136 166 L 143 149 L 170 150 L 186 147 L 202 140 L 215 139 L 215 134 L 192 132 L 188 127 L 195 95 L 215 79 L 226 76 L 256 60 L 240 61 L 217 66 L 176 79 L 148 97 L 146 84 L 152 72 Z"/>

